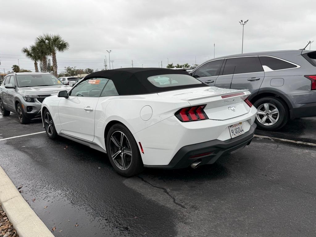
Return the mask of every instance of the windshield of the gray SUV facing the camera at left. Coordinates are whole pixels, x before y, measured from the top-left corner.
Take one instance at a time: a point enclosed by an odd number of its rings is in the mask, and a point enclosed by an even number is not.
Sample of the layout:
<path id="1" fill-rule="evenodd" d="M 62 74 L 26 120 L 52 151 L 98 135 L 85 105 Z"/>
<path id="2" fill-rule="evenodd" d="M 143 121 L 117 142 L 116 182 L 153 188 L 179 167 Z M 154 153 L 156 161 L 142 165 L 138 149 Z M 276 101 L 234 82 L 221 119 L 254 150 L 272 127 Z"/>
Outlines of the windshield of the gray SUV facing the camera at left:
<path id="1" fill-rule="evenodd" d="M 57 77 L 52 74 L 45 75 L 17 75 L 18 87 L 34 86 L 58 86 L 63 85 Z"/>

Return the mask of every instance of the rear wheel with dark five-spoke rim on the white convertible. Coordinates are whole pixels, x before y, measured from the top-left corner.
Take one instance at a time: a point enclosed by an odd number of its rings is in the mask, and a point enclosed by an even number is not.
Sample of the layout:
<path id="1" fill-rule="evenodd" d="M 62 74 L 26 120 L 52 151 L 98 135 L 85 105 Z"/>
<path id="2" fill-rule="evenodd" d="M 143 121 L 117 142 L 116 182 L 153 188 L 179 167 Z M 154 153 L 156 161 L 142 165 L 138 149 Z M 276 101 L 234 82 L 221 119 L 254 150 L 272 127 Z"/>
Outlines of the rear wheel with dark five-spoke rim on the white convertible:
<path id="1" fill-rule="evenodd" d="M 114 124 L 106 136 L 106 151 L 115 171 L 130 177 L 144 169 L 138 145 L 123 124 Z"/>

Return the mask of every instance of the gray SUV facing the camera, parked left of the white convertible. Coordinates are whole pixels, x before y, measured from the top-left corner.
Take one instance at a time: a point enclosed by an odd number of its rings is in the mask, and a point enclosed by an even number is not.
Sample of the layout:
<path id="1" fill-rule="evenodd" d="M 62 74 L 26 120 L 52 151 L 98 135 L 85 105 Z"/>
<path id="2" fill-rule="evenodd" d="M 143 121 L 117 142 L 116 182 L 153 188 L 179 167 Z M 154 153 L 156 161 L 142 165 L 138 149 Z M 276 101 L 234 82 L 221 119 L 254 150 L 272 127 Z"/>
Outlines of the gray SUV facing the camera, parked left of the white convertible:
<path id="1" fill-rule="evenodd" d="M 0 85 L 0 111 L 3 116 L 17 113 L 21 124 L 40 117 L 43 100 L 58 91 L 71 89 L 48 72 L 11 72 Z"/>

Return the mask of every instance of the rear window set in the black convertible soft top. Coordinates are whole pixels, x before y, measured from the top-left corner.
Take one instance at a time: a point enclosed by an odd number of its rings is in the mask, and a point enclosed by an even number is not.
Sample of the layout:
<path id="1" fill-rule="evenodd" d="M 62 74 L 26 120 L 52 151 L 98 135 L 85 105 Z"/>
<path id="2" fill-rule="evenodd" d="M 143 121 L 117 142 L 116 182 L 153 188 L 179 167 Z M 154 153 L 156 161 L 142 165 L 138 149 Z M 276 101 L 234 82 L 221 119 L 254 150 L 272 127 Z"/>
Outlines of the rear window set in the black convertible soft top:
<path id="1" fill-rule="evenodd" d="M 156 87 L 174 87 L 202 84 L 202 82 L 200 82 L 196 78 L 185 74 L 165 74 L 149 76 L 147 79 Z"/>

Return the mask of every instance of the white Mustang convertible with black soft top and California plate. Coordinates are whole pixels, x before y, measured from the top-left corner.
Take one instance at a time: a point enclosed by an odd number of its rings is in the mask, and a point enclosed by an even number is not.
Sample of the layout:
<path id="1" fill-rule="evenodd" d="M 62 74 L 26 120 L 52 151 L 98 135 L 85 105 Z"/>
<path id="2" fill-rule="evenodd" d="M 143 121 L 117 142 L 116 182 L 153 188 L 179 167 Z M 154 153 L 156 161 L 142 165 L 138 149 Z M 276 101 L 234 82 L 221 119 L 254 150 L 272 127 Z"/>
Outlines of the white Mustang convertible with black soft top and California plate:
<path id="1" fill-rule="evenodd" d="M 143 167 L 195 168 L 250 144 L 257 110 L 249 94 L 209 87 L 182 70 L 105 70 L 47 97 L 42 120 L 49 138 L 107 153 L 125 176 Z"/>

